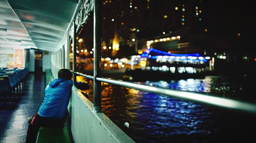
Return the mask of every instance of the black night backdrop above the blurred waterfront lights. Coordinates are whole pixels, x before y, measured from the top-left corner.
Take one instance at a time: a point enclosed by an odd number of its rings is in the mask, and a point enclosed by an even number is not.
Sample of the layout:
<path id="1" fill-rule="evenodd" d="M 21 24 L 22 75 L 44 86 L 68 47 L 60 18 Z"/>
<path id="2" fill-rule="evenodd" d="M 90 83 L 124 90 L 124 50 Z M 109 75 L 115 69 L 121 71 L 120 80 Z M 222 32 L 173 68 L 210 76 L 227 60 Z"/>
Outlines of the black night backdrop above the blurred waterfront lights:
<path id="1" fill-rule="evenodd" d="M 136 33 L 138 40 L 159 37 L 164 30 L 175 33 L 176 31 L 189 27 L 194 28 L 195 32 L 203 32 L 204 36 L 208 37 L 208 39 L 215 40 L 213 42 L 216 44 L 215 47 L 210 48 L 226 48 L 233 51 L 243 49 L 244 52 L 256 53 L 253 42 L 255 39 L 254 33 L 256 32 L 256 26 L 254 24 L 256 13 L 252 1 L 201 1 L 204 16 L 203 22 L 201 22 L 202 24 L 185 24 L 183 27 L 177 26 L 180 24 L 178 16 L 178 20 L 177 18 L 176 20 L 173 18 L 176 12 L 174 10 L 175 7 L 178 4 L 185 4 L 186 10 L 190 8 L 191 12 L 194 12 L 194 5 L 197 3 L 191 4 L 189 1 L 167 0 L 151 0 L 150 2 L 150 12 L 146 12 L 146 0 L 133 1 L 133 7 L 138 6 L 139 10 L 133 10 L 132 12 L 129 8 L 130 0 L 116 0 L 103 5 L 102 41 L 110 45 L 110 40 L 114 38 L 114 32 L 117 30 L 124 42 L 124 45 L 121 46 L 128 45 L 133 33 L 130 29 L 133 27 L 140 30 L 140 32 Z M 166 22 L 163 22 L 162 17 L 164 14 L 168 15 Z M 187 15 L 191 14 L 188 12 L 185 13 L 186 18 L 189 17 Z M 103 19 L 104 17 L 105 19 Z M 115 21 L 111 21 L 111 18 L 114 18 Z M 123 21 L 124 24 L 120 25 Z M 205 28 L 207 29 L 207 33 L 204 33 Z M 83 27 L 80 37 L 88 39 L 84 43 L 86 47 L 93 46 L 93 19 Z M 201 41 L 203 42 L 204 40 L 202 39 Z"/>

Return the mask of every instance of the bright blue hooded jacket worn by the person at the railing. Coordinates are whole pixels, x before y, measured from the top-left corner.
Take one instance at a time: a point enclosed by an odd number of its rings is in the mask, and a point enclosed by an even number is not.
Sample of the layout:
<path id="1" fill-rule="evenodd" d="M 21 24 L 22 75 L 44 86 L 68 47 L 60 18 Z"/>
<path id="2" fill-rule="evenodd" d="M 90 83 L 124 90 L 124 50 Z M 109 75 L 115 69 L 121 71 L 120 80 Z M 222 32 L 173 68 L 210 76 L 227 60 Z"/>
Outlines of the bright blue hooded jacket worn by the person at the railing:
<path id="1" fill-rule="evenodd" d="M 63 78 L 51 81 L 45 89 L 45 97 L 38 110 L 41 117 L 62 119 L 66 115 L 73 82 Z"/>

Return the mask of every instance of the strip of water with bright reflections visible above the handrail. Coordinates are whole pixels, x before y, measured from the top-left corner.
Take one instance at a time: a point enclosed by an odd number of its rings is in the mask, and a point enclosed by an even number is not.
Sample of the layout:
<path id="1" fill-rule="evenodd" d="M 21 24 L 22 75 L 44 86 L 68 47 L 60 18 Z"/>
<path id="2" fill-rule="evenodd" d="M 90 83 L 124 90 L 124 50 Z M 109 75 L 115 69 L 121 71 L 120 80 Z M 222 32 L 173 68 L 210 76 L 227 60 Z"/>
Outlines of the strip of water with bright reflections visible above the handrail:
<path id="1" fill-rule="evenodd" d="M 256 102 L 253 97 L 247 95 L 253 89 L 251 88 L 253 84 L 250 82 L 252 79 L 248 79 L 246 82 L 241 80 L 239 77 L 206 76 L 204 79 L 146 81 L 145 84 L 166 89 L 206 93 L 223 98 Z"/>

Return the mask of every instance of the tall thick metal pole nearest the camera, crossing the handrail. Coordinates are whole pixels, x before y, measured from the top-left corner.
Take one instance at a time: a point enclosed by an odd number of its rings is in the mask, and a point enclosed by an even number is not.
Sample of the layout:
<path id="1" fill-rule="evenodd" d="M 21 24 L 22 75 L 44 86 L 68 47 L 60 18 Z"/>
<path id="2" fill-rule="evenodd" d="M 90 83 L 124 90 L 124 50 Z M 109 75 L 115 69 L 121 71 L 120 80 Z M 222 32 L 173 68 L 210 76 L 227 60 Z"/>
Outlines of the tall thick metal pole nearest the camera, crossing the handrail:
<path id="1" fill-rule="evenodd" d="M 94 21 L 93 21 L 93 30 L 94 30 L 94 80 L 93 80 L 93 105 L 94 111 L 101 111 L 101 82 L 96 79 L 96 77 L 101 75 L 101 1 L 94 0 Z"/>

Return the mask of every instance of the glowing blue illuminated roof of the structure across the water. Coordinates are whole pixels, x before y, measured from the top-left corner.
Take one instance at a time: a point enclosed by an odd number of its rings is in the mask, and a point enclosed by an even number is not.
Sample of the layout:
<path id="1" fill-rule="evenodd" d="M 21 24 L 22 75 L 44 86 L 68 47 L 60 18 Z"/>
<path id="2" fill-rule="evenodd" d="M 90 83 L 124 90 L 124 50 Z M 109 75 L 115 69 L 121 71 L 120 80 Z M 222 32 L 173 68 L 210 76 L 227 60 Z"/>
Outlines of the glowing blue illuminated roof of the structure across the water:
<path id="1" fill-rule="evenodd" d="M 147 59 L 159 59 L 162 56 L 162 58 L 164 59 L 207 62 L 207 60 L 203 58 L 203 56 L 201 56 L 199 53 L 189 53 L 189 54 L 168 53 L 168 52 L 157 50 L 154 48 L 146 49 L 140 56 L 141 58 L 147 58 Z"/>

